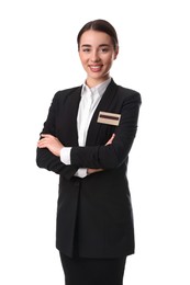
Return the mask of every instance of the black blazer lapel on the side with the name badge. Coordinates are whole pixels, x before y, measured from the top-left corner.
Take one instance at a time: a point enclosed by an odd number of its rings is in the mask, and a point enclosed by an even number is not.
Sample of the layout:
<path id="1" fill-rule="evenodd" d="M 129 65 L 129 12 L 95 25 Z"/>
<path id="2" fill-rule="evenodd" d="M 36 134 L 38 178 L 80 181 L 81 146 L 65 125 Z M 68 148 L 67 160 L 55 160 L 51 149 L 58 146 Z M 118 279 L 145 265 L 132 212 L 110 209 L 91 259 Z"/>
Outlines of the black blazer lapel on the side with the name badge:
<path id="1" fill-rule="evenodd" d="M 102 124 L 97 123 L 98 115 L 100 111 L 109 111 L 110 105 L 112 104 L 112 100 L 115 95 L 118 86 L 114 83 L 113 79 L 111 80 L 110 84 L 108 86 L 100 103 L 98 104 L 92 119 L 90 122 L 90 126 L 87 134 L 87 146 L 93 146 L 97 141 L 97 137 L 99 135 L 99 132 L 101 129 Z"/>

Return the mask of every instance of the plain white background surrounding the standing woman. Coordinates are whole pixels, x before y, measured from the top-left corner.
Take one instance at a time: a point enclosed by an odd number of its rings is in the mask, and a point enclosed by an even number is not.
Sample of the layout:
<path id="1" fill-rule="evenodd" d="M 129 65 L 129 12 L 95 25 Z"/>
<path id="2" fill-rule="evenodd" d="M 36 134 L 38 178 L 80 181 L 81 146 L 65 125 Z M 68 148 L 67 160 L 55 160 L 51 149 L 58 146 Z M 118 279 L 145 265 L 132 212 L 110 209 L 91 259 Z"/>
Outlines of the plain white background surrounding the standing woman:
<path id="1" fill-rule="evenodd" d="M 0 284 L 60 285 L 58 176 L 38 169 L 38 134 L 57 90 L 81 84 L 79 29 L 116 29 L 115 82 L 143 104 L 128 180 L 136 253 L 124 284 L 189 285 L 190 43 L 188 0 L 0 2 Z"/>

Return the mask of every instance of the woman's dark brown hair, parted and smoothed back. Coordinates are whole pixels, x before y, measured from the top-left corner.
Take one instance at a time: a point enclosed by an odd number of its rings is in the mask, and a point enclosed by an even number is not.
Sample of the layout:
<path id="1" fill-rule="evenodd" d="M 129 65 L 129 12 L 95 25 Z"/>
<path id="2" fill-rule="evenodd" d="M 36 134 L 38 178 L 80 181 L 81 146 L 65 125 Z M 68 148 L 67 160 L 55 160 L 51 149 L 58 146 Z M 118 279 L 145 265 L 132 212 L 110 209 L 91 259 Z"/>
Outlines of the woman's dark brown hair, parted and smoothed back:
<path id="1" fill-rule="evenodd" d="M 78 49 L 80 46 L 80 38 L 81 35 L 89 31 L 89 30 L 93 30 L 93 31 L 99 31 L 99 32 L 103 32 L 107 33 L 108 35 L 111 36 L 112 42 L 113 42 L 113 47 L 114 49 L 116 49 L 118 45 L 119 45 L 119 41 L 118 41 L 118 35 L 116 35 L 116 31 L 115 29 L 105 20 L 94 20 L 94 21 L 90 21 L 87 24 L 85 24 L 82 26 L 82 29 L 79 31 L 78 36 L 77 36 L 77 44 L 78 44 Z"/>

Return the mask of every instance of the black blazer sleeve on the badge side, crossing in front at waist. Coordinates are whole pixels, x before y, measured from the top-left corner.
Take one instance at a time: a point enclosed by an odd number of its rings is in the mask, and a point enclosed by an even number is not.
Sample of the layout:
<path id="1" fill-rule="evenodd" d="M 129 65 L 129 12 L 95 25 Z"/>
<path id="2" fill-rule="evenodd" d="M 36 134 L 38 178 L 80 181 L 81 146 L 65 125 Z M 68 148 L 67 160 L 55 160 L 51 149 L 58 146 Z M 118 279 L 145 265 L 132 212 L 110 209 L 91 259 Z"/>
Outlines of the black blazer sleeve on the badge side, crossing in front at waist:
<path id="1" fill-rule="evenodd" d="M 120 167 L 126 160 L 136 135 L 141 103 L 141 95 L 137 92 L 126 96 L 122 103 L 121 121 L 112 145 L 72 147 L 71 164 L 94 169 Z"/>

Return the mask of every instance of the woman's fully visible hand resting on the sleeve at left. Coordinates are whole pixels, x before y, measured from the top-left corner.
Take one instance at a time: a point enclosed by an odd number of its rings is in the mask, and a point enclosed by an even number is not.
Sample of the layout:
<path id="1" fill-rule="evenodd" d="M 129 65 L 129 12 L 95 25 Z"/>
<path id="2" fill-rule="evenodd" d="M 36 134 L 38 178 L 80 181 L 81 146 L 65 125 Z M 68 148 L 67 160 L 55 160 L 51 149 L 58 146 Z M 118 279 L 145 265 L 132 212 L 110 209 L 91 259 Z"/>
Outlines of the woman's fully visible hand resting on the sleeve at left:
<path id="1" fill-rule="evenodd" d="M 37 141 L 38 148 L 48 148 L 48 150 L 55 155 L 56 157 L 60 156 L 60 149 L 64 147 L 64 145 L 58 140 L 58 138 L 48 135 L 48 134 L 42 134 L 41 139 Z"/>

